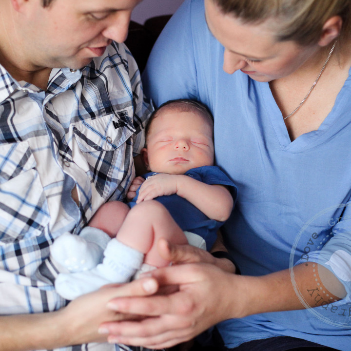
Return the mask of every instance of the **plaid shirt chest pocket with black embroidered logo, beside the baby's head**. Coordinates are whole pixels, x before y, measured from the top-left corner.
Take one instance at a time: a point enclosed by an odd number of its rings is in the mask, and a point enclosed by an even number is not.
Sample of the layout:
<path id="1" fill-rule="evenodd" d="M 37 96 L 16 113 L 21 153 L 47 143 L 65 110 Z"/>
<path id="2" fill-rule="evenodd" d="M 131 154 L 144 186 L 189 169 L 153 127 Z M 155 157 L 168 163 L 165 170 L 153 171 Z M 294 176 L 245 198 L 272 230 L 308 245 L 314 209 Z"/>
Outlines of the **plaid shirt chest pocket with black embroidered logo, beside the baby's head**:
<path id="1" fill-rule="evenodd" d="M 130 108 L 132 110 L 132 108 Z M 132 111 L 131 111 L 132 112 Z M 133 157 L 131 137 L 135 129 L 128 118 L 128 110 L 75 123 L 73 133 L 80 153 L 88 163 L 95 187 L 108 198 L 129 174 Z"/>

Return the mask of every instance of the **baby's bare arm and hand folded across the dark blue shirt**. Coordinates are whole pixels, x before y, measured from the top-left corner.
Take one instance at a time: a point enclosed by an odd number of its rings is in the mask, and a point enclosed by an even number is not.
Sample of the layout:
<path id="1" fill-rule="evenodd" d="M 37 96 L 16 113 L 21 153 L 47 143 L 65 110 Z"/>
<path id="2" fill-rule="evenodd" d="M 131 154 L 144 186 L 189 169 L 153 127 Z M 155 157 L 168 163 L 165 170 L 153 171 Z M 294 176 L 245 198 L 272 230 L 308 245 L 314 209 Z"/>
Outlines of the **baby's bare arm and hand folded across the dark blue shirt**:
<path id="1" fill-rule="evenodd" d="M 137 203 L 172 194 L 184 197 L 209 218 L 220 222 L 227 220 L 233 209 L 233 197 L 225 186 L 169 174 L 148 178 L 139 190 Z"/>

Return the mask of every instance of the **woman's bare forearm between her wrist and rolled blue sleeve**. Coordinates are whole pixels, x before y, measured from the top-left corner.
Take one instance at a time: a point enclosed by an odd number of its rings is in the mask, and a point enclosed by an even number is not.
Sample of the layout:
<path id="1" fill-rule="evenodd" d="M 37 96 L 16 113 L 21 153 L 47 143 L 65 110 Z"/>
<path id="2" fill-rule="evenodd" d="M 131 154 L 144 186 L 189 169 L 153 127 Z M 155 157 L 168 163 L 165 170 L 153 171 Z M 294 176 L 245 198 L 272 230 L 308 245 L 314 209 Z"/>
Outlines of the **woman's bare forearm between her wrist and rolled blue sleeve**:
<path id="1" fill-rule="evenodd" d="M 319 272 L 318 272 L 319 271 Z M 321 279 L 320 274 L 323 274 Z M 236 285 L 243 289 L 244 315 L 300 310 L 338 301 L 346 295 L 343 285 L 323 266 L 309 262 L 264 276 L 243 276 Z M 321 283 L 325 282 L 323 286 Z M 328 288 L 327 288 L 328 286 Z M 235 316 L 236 311 L 233 311 Z M 241 315 L 244 316 L 244 315 Z"/>

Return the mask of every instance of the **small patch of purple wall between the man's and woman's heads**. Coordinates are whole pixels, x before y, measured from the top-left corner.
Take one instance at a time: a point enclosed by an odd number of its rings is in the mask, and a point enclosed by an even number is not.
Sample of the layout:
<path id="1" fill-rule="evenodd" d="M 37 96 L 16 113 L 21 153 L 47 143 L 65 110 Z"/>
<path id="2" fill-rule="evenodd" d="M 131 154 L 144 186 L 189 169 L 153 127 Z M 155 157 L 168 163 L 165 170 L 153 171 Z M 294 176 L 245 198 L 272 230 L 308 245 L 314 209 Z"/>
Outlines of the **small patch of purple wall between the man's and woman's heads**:
<path id="1" fill-rule="evenodd" d="M 132 13 L 132 20 L 144 24 L 150 17 L 170 15 L 176 12 L 183 0 L 143 0 Z"/>

